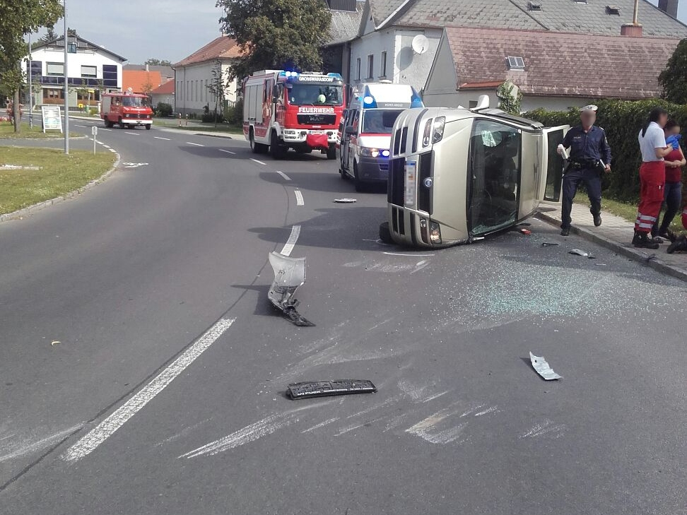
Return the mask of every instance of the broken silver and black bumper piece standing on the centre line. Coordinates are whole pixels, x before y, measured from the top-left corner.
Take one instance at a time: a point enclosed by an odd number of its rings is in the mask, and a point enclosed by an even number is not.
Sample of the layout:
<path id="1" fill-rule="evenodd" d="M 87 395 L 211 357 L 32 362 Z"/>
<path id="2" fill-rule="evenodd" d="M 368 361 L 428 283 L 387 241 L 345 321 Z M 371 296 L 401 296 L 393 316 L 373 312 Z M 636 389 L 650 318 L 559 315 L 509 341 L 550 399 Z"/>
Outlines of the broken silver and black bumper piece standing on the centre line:
<path id="1" fill-rule="evenodd" d="M 269 301 L 294 325 L 315 326 L 298 313 L 296 307 L 299 302 L 293 298 L 295 291 L 305 283 L 305 258 L 292 258 L 278 252 L 270 252 L 269 264 L 274 270 L 274 281 L 267 293 Z"/>

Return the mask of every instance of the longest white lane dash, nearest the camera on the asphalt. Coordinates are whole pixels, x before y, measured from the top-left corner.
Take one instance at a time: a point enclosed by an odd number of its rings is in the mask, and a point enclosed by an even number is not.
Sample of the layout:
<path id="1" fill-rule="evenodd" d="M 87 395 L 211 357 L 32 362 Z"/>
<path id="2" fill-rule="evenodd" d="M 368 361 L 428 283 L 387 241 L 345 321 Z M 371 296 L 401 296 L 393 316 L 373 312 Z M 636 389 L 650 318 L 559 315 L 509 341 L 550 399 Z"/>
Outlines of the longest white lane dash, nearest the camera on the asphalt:
<path id="1" fill-rule="evenodd" d="M 90 454 L 102 442 L 112 436 L 127 420 L 136 415 L 148 402 L 163 391 L 179 374 L 192 364 L 210 345 L 215 343 L 228 328 L 234 323 L 235 319 L 221 319 L 216 322 L 206 333 L 191 345 L 184 353 L 177 357 L 172 364 L 158 374 L 151 382 L 143 386 L 133 397 L 122 406 L 117 408 L 112 415 L 100 422 L 98 426 L 79 439 L 76 444 L 71 446 L 62 459 L 65 461 L 76 461 Z"/>

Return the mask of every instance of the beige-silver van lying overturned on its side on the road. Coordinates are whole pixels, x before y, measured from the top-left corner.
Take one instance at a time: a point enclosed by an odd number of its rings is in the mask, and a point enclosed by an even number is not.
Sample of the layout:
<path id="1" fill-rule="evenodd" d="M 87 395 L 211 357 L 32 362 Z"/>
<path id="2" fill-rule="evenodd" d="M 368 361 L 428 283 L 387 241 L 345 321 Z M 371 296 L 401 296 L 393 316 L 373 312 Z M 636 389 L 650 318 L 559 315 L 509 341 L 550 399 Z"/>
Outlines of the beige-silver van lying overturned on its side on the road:
<path id="1" fill-rule="evenodd" d="M 380 237 L 413 247 L 470 243 L 558 203 L 556 146 L 568 129 L 488 107 L 404 111 L 392 133 Z"/>

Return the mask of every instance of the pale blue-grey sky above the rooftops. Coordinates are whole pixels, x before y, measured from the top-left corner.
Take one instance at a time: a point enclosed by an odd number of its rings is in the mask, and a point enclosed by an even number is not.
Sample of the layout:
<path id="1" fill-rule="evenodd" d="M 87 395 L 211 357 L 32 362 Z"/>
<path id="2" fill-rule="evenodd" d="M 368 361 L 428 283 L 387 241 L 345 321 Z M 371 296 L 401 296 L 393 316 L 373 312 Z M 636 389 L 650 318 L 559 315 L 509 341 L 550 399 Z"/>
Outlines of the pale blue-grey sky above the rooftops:
<path id="1" fill-rule="evenodd" d="M 66 1 L 71 28 L 130 63 L 149 57 L 177 62 L 220 35 L 216 0 Z M 678 18 L 687 20 L 687 0 L 681 0 Z"/>

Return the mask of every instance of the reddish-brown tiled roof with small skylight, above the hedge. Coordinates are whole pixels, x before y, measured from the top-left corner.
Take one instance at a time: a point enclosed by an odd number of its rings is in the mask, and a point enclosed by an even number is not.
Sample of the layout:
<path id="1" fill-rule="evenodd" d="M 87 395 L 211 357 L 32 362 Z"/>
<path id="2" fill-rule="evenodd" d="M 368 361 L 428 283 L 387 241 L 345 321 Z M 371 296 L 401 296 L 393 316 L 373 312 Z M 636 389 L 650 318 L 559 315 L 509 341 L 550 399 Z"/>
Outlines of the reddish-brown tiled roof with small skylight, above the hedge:
<path id="1" fill-rule="evenodd" d="M 458 85 L 510 79 L 525 95 L 658 97 L 679 40 L 534 30 L 447 27 Z M 507 57 L 522 57 L 524 71 Z"/>

